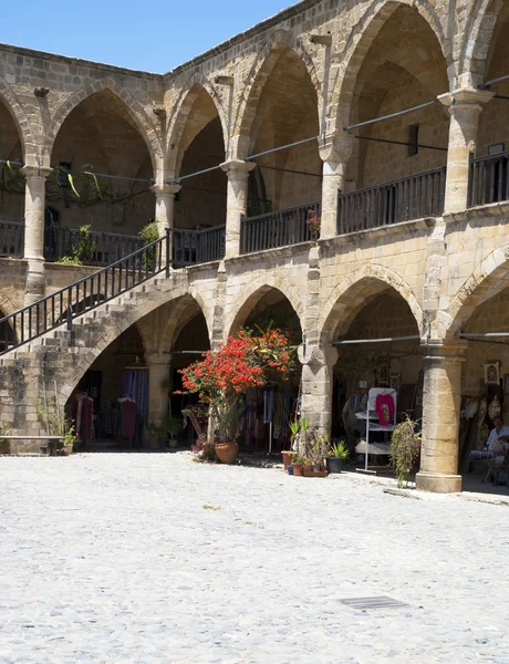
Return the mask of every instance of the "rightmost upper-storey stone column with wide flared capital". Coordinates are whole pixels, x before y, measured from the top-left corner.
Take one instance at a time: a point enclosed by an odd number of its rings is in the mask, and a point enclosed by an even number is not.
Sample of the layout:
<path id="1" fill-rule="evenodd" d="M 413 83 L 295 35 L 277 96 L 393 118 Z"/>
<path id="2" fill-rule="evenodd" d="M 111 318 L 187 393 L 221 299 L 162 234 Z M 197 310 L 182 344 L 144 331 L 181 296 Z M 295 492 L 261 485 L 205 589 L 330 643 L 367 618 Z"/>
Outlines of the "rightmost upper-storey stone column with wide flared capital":
<path id="1" fill-rule="evenodd" d="M 438 97 L 450 115 L 445 212 L 467 208 L 470 153 L 476 149 L 479 113 L 494 94 L 486 90 L 460 89 Z"/>

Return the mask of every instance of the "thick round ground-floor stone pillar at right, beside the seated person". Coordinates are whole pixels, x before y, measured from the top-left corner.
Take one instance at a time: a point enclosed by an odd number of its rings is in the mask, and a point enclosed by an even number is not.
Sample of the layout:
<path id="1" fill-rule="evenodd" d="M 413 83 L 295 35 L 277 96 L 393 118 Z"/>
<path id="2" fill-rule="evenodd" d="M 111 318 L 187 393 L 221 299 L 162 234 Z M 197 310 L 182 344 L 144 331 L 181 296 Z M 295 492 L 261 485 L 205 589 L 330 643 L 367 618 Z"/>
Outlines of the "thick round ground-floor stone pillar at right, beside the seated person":
<path id="1" fill-rule="evenodd" d="M 437 494 L 461 490 L 458 429 L 461 365 L 467 344 L 428 342 L 424 359 L 423 443 L 417 489 Z"/>

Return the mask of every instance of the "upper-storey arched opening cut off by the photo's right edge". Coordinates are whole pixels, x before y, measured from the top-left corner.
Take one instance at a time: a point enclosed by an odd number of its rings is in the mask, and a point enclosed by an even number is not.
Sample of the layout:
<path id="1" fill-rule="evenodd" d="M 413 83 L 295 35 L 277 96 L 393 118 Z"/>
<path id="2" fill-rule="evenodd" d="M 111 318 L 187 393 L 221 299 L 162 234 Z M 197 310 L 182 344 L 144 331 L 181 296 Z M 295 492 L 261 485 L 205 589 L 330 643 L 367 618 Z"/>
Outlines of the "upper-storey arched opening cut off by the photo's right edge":
<path id="1" fill-rule="evenodd" d="M 494 17 L 495 18 L 495 17 Z M 509 8 L 503 3 L 485 63 L 486 82 L 509 75 Z M 471 165 L 470 204 L 485 205 L 509 199 L 509 79 L 495 83 L 495 97 L 484 104 L 479 116 L 476 159 Z"/>

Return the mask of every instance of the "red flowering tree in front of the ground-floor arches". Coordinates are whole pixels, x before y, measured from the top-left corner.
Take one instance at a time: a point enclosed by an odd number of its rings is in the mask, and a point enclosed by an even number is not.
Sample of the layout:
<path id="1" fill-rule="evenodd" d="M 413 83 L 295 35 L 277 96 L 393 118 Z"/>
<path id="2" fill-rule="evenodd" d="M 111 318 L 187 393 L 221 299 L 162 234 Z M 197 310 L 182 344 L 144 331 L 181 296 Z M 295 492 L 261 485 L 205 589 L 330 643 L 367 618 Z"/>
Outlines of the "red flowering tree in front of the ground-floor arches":
<path id="1" fill-rule="evenodd" d="M 249 387 L 261 387 L 270 373 L 287 375 L 292 369 L 293 352 L 287 332 L 272 330 L 254 334 L 242 329 L 229 336 L 217 352 L 208 351 L 204 360 L 180 371 L 184 387 L 198 393 L 214 417 L 220 443 L 233 439 L 233 424 L 239 415 L 239 396 Z"/>

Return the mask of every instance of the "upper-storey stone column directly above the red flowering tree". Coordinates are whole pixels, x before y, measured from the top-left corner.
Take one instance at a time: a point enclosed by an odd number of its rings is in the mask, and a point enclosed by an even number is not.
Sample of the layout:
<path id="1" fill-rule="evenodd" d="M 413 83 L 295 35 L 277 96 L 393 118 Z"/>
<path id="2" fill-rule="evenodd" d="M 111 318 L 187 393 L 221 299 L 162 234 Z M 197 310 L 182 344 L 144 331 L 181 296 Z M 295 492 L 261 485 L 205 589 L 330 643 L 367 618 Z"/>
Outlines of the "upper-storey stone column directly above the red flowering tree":
<path id="1" fill-rule="evenodd" d="M 221 164 L 228 177 L 226 203 L 226 258 L 240 253 L 240 218 L 248 209 L 248 178 L 253 162 L 231 159 Z"/>

